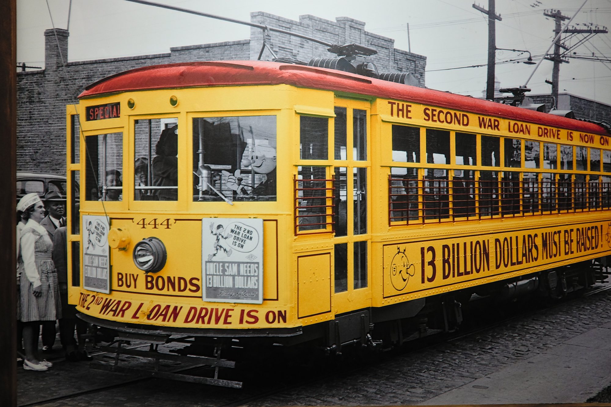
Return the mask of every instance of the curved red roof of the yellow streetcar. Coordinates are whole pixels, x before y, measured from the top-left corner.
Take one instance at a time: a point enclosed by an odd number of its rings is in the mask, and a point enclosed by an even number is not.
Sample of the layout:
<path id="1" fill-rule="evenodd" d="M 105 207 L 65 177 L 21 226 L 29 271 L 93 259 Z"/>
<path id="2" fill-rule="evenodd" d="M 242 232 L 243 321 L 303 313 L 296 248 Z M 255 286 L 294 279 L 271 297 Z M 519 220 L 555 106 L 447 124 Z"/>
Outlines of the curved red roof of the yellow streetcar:
<path id="1" fill-rule="evenodd" d="M 411 101 L 423 105 L 533 122 L 549 127 L 609 135 L 602 127 L 594 123 L 516 108 L 502 103 L 367 78 L 344 71 L 252 60 L 183 62 L 136 68 L 108 76 L 108 78 L 91 84 L 79 95 L 79 98 L 130 90 L 276 84 Z"/>

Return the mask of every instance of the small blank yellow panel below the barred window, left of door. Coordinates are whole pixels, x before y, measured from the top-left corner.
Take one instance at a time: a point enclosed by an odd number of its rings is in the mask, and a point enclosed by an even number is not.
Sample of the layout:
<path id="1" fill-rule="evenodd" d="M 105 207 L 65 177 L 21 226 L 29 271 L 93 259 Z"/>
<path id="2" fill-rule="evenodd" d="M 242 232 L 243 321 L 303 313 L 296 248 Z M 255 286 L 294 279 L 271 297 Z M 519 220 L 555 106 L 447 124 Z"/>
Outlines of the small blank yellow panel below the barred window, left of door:
<path id="1" fill-rule="evenodd" d="M 298 317 L 331 312 L 331 253 L 297 259 Z"/>

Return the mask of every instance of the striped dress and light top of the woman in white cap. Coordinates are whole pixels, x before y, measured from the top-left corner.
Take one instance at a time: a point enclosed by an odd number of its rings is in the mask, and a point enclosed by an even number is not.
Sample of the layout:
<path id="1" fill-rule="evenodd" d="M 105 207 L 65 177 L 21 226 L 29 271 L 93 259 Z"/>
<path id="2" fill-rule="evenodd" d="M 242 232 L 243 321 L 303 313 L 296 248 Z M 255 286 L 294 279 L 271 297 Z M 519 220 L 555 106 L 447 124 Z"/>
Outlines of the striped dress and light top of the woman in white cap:
<path id="1" fill-rule="evenodd" d="M 34 253 L 24 251 L 24 241 L 34 240 Z M 18 274 L 20 276 L 20 293 L 17 306 L 17 319 L 22 322 L 28 321 L 54 321 L 62 317 L 62 304 L 59 295 L 59 284 L 57 283 L 57 270 L 51 259 L 53 243 L 46 230 L 41 233 L 31 227 L 24 227 L 20 238 L 21 254 L 18 259 Z M 26 270 L 27 262 L 24 257 L 34 255 L 34 270 Z M 34 281 L 31 281 L 34 279 Z M 34 282 L 40 280 L 40 291 L 42 295 L 35 297 L 32 292 Z"/>

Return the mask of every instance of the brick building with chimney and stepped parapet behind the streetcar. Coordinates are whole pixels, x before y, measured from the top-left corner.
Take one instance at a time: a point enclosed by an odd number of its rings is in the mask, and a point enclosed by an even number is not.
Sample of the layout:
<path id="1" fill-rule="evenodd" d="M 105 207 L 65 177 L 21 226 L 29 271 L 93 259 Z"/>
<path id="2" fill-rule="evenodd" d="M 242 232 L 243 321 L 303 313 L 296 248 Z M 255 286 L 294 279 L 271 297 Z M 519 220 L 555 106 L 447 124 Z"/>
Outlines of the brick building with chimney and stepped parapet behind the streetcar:
<path id="1" fill-rule="evenodd" d="M 253 23 L 309 35 L 329 43 L 360 43 L 375 48 L 369 59 L 381 72 L 410 72 L 425 83 L 426 57 L 394 48 L 394 40 L 365 31 L 365 23 L 348 17 L 336 21 L 302 15 L 299 21 L 263 12 L 251 13 Z M 251 28 L 250 39 L 177 46 L 169 53 L 67 62 L 68 35 L 64 29 L 45 31 L 45 68 L 17 74 L 17 171 L 65 174 L 65 106 L 87 85 L 115 73 L 156 64 L 198 60 L 255 60 L 263 47 L 263 30 Z M 326 47 L 286 34 L 268 32 L 277 57 L 307 62 L 333 57 Z M 262 59 L 271 59 L 265 50 Z"/>

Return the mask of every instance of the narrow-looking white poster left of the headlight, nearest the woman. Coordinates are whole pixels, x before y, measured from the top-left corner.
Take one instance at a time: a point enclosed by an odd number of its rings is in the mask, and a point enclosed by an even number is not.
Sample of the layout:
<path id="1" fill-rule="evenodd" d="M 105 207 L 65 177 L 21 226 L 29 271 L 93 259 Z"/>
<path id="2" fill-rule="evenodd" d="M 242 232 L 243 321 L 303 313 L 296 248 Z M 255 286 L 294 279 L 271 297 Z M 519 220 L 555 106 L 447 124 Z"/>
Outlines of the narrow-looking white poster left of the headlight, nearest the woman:
<path id="1" fill-rule="evenodd" d="M 108 246 L 108 221 L 106 216 L 82 216 L 82 287 L 86 290 L 109 294 L 110 248 Z"/>

